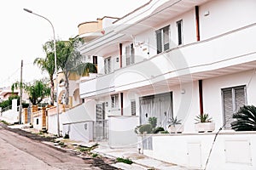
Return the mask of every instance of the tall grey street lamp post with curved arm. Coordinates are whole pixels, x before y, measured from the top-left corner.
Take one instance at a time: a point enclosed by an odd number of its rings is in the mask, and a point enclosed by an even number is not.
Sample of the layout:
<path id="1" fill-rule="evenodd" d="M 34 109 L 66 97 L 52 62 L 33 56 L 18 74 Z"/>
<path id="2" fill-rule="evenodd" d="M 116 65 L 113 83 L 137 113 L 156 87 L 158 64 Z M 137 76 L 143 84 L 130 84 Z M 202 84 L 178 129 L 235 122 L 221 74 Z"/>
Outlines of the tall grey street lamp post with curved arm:
<path id="1" fill-rule="evenodd" d="M 50 26 L 52 27 L 52 31 L 53 31 L 53 36 L 54 36 L 54 48 L 55 48 L 55 77 L 56 77 L 56 101 L 57 101 L 57 105 L 56 105 L 56 109 L 57 109 L 57 135 L 58 137 L 60 136 L 60 116 L 59 116 L 59 104 L 58 104 L 58 74 L 57 74 L 57 56 L 56 56 L 56 41 L 55 41 L 55 28 L 52 25 L 52 23 L 50 22 L 50 20 L 48 20 L 47 18 L 45 18 L 44 16 L 40 15 L 40 14 L 36 14 L 33 13 L 32 10 L 29 10 L 27 8 L 23 8 L 26 12 L 30 13 L 30 14 L 35 14 L 41 18 L 43 18 L 44 20 L 47 20 L 50 24 Z"/>

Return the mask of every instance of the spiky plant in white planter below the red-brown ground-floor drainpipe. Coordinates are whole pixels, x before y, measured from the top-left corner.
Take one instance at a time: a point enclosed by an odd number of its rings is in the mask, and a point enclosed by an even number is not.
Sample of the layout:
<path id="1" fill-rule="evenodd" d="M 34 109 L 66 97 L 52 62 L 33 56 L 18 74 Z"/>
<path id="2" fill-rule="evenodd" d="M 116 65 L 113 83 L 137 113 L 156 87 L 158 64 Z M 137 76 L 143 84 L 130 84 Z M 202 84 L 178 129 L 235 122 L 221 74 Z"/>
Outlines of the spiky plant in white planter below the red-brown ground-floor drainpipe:
<path id="1" fill-rule="evenodd" d="M 215 123 L 207 113 L 196 116 L 195 121 L 195 131 L 199 133 L 212 132 L 215 129 Z"/>

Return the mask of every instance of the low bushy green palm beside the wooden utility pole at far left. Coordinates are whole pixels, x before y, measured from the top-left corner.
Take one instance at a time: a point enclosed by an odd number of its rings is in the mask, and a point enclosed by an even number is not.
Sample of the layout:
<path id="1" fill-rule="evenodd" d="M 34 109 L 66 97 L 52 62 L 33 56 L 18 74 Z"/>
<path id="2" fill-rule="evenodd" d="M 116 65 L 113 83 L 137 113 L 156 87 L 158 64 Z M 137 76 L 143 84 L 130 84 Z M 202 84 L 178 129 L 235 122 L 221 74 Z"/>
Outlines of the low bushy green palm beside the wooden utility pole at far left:
<path id="1" fill-rule="evenodd" d="M 32 83 L 22 83 L 22 85 L 20 85 L 20 82 L 15 82 L 12 85 L 12 91 L 14 91 L 15 88 L 20 88 L 21 86 L 29 95 L 29 100 L 32 102 L 32 105 L 38 105 L 50 94 L 48 83 L 44 80 L 37 80 Z"/>

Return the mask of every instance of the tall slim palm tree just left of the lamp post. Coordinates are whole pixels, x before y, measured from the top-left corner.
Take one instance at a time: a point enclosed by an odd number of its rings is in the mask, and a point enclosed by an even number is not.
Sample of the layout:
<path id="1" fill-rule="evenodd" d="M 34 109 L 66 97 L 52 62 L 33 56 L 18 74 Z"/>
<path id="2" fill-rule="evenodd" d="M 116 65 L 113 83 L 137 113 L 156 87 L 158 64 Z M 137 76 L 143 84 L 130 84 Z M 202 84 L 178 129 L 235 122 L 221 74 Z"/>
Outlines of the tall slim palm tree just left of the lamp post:
<path id="1" fill-rule="evenodd" d="M 46 54 L 45 58 L 37 58 L 34 60 L 34 65 L 38 65 L 38 67 L 42 71 L 46 71 L 49 75 L 50 82 L 50 105 L 54 105 L 54 96 L 55 96 L 55 83 L 54 83 L 54 73 L 55 73 L 55 55 L 54 55 L 54 42 L 45 42 L 44 53 Z"/>

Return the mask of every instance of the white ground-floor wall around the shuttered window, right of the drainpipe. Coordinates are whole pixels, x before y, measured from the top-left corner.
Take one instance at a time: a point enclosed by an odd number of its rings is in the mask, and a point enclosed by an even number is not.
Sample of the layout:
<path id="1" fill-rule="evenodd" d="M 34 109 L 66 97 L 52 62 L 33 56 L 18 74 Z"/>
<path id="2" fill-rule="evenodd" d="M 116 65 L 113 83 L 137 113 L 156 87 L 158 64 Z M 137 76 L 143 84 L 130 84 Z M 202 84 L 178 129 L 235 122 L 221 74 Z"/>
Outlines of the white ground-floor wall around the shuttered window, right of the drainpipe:
<path id="1" fill-rule="evenodd" d="M 212 116 L 212 119 L 216 122 L 216 127 L 223 125 L 224 113 L 221 88 L 232 88 L 241 85 L 247 87 L 247 105 L 256 105 L 256 90 L 254 88 L 256 86 L 256 75 L 253 70 L 203 80 L 204 111 Z"/>

